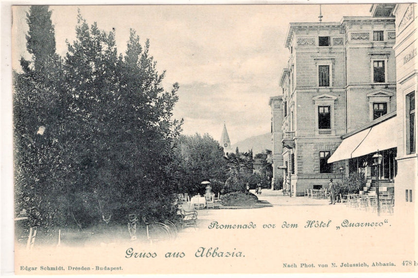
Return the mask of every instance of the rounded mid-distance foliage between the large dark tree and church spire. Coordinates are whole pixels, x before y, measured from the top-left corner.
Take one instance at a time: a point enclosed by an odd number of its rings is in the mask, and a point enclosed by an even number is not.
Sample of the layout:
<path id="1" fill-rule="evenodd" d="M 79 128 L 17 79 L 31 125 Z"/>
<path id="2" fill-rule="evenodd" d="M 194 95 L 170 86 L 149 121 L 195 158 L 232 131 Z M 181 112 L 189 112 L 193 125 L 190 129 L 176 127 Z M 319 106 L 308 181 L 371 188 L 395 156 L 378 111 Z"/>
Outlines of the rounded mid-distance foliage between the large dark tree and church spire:
<path id="1" fill-rule="evenodd" d="M 209 134 L 179 136 L 172 169 L 178 192 L 203 194 L 206 185 L 201 185 L 202 181 L 215 179 L 223 183 L 226 180 L 224 151 Z M 220 185 L 212 183 L 212 191 L 217 186 Z"/>

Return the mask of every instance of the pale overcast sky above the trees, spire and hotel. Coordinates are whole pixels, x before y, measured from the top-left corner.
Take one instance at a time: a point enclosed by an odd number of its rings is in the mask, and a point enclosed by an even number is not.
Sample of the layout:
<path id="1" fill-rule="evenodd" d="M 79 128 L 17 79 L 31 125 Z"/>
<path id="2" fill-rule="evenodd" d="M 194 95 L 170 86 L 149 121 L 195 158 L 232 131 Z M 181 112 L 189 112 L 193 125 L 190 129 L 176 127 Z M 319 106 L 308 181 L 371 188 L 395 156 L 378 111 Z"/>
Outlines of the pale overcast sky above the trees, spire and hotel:
<path id="1" fill-rule="evenodd" d="M 167 70 L 164 88 L 178 82 L 177 119 L 184 134 L 209 133 L 219 140 L 224 121 L 232 144 L 270 132 L 270 96 L 281 94 L 279 78 L 289 52 L 284 48 L 290 22 L 318 21 L 319 5 L 155 5 L 51 6 L 57 52 L 75 39 L 77 9 L 89 24 L 116 29 L 118 52 L 124 52 L 129 29 L 150 53 L 159 71 Z M 370 4 L 322 5 L 323 21 L 343 16 L 370 16 Z M 15 55 L 19 69 L 26 52 L 27 7 L 13 15 Z"/>

